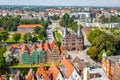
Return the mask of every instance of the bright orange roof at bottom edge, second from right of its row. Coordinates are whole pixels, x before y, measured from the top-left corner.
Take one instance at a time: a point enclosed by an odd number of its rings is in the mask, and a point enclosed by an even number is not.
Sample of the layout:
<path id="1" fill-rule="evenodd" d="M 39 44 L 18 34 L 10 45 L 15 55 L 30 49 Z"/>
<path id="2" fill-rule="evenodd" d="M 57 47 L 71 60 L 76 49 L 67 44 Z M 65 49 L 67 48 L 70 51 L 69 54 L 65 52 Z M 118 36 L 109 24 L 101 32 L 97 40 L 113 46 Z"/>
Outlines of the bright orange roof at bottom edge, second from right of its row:
<path id="1" fill-rule="evenodd" d="M 49 72 L 52 74 L 52 77 L 53 77 L 52 80 L 56 80 L 60 73 L 59 69 L 56 67 L 55 64 L 51 65 L 51 67 L 49 68 Z"/>

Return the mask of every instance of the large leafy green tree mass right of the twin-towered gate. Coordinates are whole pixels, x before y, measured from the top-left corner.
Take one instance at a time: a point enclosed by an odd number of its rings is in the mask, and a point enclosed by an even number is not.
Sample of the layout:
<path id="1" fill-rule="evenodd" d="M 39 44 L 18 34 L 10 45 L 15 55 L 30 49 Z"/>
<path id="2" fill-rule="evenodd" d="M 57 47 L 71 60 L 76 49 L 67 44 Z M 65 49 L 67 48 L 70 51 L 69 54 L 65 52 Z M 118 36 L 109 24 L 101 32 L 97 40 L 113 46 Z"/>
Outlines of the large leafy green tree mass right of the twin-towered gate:
<path id="1" fill-rule="evenodd" d="M 100 36 L 95 37 L 88 50 L 88 54 L 92 59 L 101 61 L 103 50 L 107 52 L 108 56 L 115 54 L 116 48 L 113 35 L 101 34 Z"/>

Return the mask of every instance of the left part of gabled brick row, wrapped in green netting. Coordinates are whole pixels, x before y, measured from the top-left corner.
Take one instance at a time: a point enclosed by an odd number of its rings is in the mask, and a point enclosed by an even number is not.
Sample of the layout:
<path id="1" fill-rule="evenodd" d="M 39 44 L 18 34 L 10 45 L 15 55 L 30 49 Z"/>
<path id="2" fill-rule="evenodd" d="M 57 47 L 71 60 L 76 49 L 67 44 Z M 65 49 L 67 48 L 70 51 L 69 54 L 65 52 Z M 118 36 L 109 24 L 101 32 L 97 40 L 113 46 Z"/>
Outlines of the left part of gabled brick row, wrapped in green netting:
<path id="1" fill-rule="evenodd" d="M 36 64 L 45 62 L 45 51 L 37 50 L 35 44 L 29 49 L 27 45 L 23 45 L 19 53 L 20 64 Z"/>

